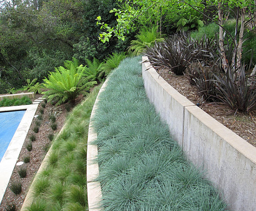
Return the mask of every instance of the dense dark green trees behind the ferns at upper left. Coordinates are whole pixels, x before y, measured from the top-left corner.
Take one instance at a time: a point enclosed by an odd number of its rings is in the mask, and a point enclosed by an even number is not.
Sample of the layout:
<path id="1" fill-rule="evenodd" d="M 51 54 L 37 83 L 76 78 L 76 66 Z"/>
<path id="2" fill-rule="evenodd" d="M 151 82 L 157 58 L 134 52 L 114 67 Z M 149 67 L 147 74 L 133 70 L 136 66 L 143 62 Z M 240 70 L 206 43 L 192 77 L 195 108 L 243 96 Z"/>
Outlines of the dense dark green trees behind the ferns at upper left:
<path id="1" fill-rule="evenodd" d="M 4 3 L 3 3 L 4 4 Z M 25 0 L 0 4 L 0 93 L 19 88 L 38 78 L 41 83 L 54 67 L 72 56 L 85 64 L 102 60 L 112 52 L 125 51 L 130 40 L 98 39 L 95 18 L 112 23 L 116 0 Z M 132 37 L 133 35 L 131 35 Z"/>

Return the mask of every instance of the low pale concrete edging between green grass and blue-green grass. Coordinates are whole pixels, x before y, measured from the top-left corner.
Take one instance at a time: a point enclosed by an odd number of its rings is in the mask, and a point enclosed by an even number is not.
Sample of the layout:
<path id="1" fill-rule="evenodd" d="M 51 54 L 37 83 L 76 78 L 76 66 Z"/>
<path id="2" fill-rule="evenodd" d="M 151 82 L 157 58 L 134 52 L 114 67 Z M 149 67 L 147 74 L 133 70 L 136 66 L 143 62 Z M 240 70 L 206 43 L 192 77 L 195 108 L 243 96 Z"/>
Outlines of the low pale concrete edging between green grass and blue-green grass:
<path id="1" fill-rule="evenodd" d="M 102 191 L 100 182 L 96 182 L 95 179 L 99 175 L 99 165 L 95 163 L 95 159 L 98 156 L 98 146 L 93 145 L 92 142 L 97 139 L 97 133 L 93 129 L 92 118 L 95 115 L 97 109 L 97 103 L 99 102 L 99 95 L 105 90 L 108 83 L 108 78 L 102 85 L 97 95 L 96 101 L 93 105 L 93 110 L 90 116 L 90 124 L 88 130 L 87 141 L 87 197 L 88 197 L 88 209 L 89 211 L 100 211 L 99 203 L 102 200 Z"/>

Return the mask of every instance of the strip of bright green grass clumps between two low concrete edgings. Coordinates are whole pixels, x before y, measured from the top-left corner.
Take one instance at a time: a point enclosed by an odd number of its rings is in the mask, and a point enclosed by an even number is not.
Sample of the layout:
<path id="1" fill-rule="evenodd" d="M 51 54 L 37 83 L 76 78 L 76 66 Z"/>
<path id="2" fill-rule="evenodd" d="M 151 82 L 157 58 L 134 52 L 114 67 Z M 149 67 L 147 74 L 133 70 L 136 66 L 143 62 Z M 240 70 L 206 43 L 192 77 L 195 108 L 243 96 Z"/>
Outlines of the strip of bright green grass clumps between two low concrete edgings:
<path id="1" fill-rule="evenodd" d="M 87 135 L 99 89 L 95 87 L 86 101 L 73 109 L 65 124 L 68 127 L 54 139 L 48 165 L 32 185 L 33 202 L 26 210 L 87 210 Z"/>

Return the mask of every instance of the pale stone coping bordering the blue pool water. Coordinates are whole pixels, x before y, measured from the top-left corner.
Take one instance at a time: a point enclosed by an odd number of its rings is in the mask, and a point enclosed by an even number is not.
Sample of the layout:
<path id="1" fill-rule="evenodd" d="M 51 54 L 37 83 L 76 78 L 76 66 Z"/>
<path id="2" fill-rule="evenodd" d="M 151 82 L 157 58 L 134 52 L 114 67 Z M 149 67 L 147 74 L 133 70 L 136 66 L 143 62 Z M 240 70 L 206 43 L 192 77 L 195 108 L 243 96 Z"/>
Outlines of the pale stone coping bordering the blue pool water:
<path id="1" fill-rule="evenodd" d="M 26 110 L 2 160 L 0 161 L 0 172 L 2 172 L 0 174 L 0 203 L 2 202 L 7 185 L 20 155 L 20 150 L 26 139 L 26 135 L 29 131 L 29 127 L 35 116 L 37 108 L 38 103 L 21 106 L 0 107 L 0 112 Z"/>

